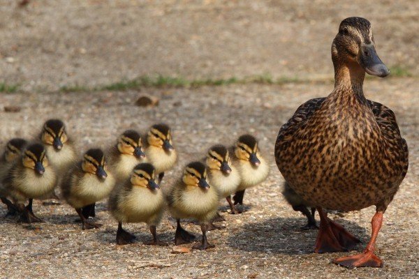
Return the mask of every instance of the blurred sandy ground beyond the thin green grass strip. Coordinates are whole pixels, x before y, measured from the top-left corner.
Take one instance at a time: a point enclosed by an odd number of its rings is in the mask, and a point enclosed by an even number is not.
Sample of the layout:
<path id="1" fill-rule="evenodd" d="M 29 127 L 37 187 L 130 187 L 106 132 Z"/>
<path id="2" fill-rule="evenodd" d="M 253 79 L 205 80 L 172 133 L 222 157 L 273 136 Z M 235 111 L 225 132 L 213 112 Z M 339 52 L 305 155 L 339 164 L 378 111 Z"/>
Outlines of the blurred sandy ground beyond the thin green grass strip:
<path id="1" fill-rule="evenodd" d="M 330 79 L 332 38 L 355 15 L 372 22 L 393 77 L 418 75 L 418 9 L 416 0 L 1 0 L 0 82 Z"/>

